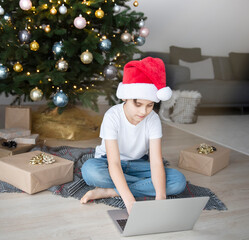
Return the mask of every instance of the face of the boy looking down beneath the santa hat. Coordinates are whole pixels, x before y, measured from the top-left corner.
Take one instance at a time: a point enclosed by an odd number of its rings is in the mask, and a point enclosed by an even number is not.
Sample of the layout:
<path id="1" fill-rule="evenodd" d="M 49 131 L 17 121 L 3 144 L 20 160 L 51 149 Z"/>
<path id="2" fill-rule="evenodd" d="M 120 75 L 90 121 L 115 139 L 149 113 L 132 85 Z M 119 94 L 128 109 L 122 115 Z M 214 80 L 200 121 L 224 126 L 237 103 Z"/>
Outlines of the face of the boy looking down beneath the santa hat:
<path id="1" fill-rule="evenodd" d="M 137 125 L 153 110 L 154 102 L 144 99 L 128 99 L 124 104 L 124 112 L 128 121 Z"/>

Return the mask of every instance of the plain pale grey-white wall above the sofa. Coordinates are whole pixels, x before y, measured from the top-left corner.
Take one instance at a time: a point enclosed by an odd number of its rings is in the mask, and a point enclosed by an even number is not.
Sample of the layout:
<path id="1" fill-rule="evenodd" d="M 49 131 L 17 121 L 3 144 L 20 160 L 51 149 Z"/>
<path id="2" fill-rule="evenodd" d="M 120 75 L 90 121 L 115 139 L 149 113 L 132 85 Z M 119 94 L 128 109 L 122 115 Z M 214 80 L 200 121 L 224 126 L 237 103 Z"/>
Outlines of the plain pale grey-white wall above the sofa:
<path id="1" fill-rule="evenodd" d="M 200 47 L 203 55 L 249 52 L 249 0 L 134 0 L 150 29 L 144 51 Z"/>

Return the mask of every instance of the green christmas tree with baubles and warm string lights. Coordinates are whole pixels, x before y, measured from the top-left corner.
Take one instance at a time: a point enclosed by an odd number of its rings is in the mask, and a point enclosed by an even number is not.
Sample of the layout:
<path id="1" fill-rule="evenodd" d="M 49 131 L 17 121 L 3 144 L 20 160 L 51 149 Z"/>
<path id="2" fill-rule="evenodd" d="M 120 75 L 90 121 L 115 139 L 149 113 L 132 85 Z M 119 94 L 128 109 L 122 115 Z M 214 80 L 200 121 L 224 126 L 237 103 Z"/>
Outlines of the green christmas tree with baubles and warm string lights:
<path id="1" fill-rule="evenodd" d="M 149 33 L 126 2 L 0 0 L 0 93 L 51 108 L 80 101 L 96 110 L 100 95 L 113 104 L 124 64 Z"/>

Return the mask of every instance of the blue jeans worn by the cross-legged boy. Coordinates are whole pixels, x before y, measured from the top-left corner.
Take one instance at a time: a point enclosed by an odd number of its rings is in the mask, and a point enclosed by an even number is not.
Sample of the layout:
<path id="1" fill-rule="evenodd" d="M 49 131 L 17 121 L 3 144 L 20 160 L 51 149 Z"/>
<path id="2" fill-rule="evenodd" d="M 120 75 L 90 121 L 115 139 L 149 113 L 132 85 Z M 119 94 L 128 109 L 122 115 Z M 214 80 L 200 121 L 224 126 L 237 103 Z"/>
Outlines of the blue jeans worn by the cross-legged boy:
<path id="1" fill-rule="evenodd" d="M 125 179 L 134 197 L 156 196 L 151 180 L 150 163 L 144 159 L 121 161 Z M 184 175 L 176 169 L 165 168 L 166 194 L 176 195 L 186 187 Z M 89 186 L 100 188 L 114 188 L 110 177 L 107 158 L 88 159 L 81 168 L 84 181 Z"/>

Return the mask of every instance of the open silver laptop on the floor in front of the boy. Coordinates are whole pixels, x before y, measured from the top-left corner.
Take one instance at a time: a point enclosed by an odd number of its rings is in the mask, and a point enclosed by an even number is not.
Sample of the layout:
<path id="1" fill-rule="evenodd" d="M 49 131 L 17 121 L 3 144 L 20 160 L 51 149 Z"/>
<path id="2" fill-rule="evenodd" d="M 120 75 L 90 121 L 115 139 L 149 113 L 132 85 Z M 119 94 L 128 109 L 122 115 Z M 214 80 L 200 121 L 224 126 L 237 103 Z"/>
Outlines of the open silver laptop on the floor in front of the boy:
<path id="1" fill-rule="evenodd" d="M 193 229 L 209 197 L 137 201 L 128 217 L 126 209 L 109 210 L 123 236 Z"/>

